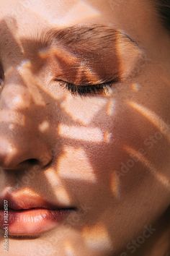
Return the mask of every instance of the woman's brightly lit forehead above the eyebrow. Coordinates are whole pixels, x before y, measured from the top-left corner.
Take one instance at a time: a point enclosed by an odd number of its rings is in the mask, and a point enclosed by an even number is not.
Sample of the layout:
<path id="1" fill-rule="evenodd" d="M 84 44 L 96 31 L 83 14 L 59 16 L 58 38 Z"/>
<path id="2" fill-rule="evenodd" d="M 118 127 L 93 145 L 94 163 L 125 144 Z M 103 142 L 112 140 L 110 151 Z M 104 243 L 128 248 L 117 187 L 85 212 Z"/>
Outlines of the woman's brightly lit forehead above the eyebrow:
<path id="1" fill-rule="evenodd" d="M 29 36 L 44 27 L 84 23 L 113 25 L 127 33 L 138 33 L 153 29 L 155 13 L 148 0 L 3 0 L 0 20 L 7 17 L 17 22 L 19 34 Z"/>

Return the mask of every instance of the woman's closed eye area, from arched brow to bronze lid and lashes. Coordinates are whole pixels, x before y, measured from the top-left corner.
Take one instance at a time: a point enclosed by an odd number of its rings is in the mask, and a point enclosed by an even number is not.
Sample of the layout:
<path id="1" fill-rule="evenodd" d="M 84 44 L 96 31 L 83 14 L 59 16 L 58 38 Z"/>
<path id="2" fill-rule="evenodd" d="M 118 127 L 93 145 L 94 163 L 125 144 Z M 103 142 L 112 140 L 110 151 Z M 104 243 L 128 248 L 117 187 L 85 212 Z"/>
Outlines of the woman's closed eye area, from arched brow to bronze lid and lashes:
<path id="1" fill-rule="evenodd" d="M 140 51 L 128 35 L 105 25 L 44 31 L 34 42 L 23 38 L 22 46 L 32 74 L 50 74 L 50 82 L 81 96 L 104 95 L 124 81 Z"/>

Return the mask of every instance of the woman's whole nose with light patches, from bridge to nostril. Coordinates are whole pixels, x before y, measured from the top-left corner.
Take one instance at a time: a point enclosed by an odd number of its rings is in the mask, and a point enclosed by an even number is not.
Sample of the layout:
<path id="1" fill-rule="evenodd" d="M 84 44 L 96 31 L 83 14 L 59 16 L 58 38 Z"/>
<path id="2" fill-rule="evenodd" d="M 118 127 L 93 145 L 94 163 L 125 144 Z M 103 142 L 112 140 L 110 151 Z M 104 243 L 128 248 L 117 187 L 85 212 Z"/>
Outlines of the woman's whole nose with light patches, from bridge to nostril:
<path id="1" fill-rule="evenodd" d="M 34 95 L 36 98 L 36 95 Z M 18 169 L 32 164 L 42 167 L 52 161 L 48 140 L 38 128 L 44 109 L 36 104 L 19 79 L 4 82 L 0 95 L 0 167 Z"/>

